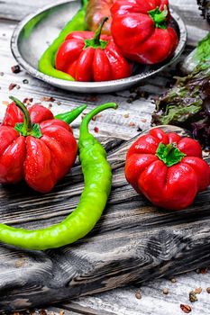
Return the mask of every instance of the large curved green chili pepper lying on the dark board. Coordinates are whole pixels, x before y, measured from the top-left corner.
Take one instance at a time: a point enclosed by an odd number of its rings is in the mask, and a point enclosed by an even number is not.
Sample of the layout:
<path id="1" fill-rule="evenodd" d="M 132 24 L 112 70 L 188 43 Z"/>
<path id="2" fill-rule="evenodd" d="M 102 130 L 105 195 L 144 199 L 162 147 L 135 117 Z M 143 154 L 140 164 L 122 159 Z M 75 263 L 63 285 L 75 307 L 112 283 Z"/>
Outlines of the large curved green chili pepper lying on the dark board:
<path id="1" fill-rule="evenodd" d="M 105 149 L 88 131 L 89 121 L 116 103 L 105 103 L 89 112 L 79 130 L 79 158 L 85 188 L 78 207 L 62 222 L 46 229 L 15 229 L 0 224 L 0 241 L 28 249 L 44 250 L 71 244 L 94 228 L 105 209 L 112 185 L 112 170 L 106 161 Z"/>

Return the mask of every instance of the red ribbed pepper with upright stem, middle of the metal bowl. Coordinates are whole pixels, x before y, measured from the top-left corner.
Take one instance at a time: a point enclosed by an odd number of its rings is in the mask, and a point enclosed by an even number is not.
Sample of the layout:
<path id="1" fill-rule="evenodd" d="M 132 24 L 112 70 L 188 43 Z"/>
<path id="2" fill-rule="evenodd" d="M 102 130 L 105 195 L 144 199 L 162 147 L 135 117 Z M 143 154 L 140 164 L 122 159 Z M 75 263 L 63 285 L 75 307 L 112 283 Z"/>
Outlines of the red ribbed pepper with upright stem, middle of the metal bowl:
<path id="1" fill-rule="evenodd" d="M 56 55 L 56 68 L 77 81 L 109 81 L 132 74 L 132 64 L 123 58 L 111 36 L 101 35 L 103 19 L 96 33 L 72 31 Z"/>

